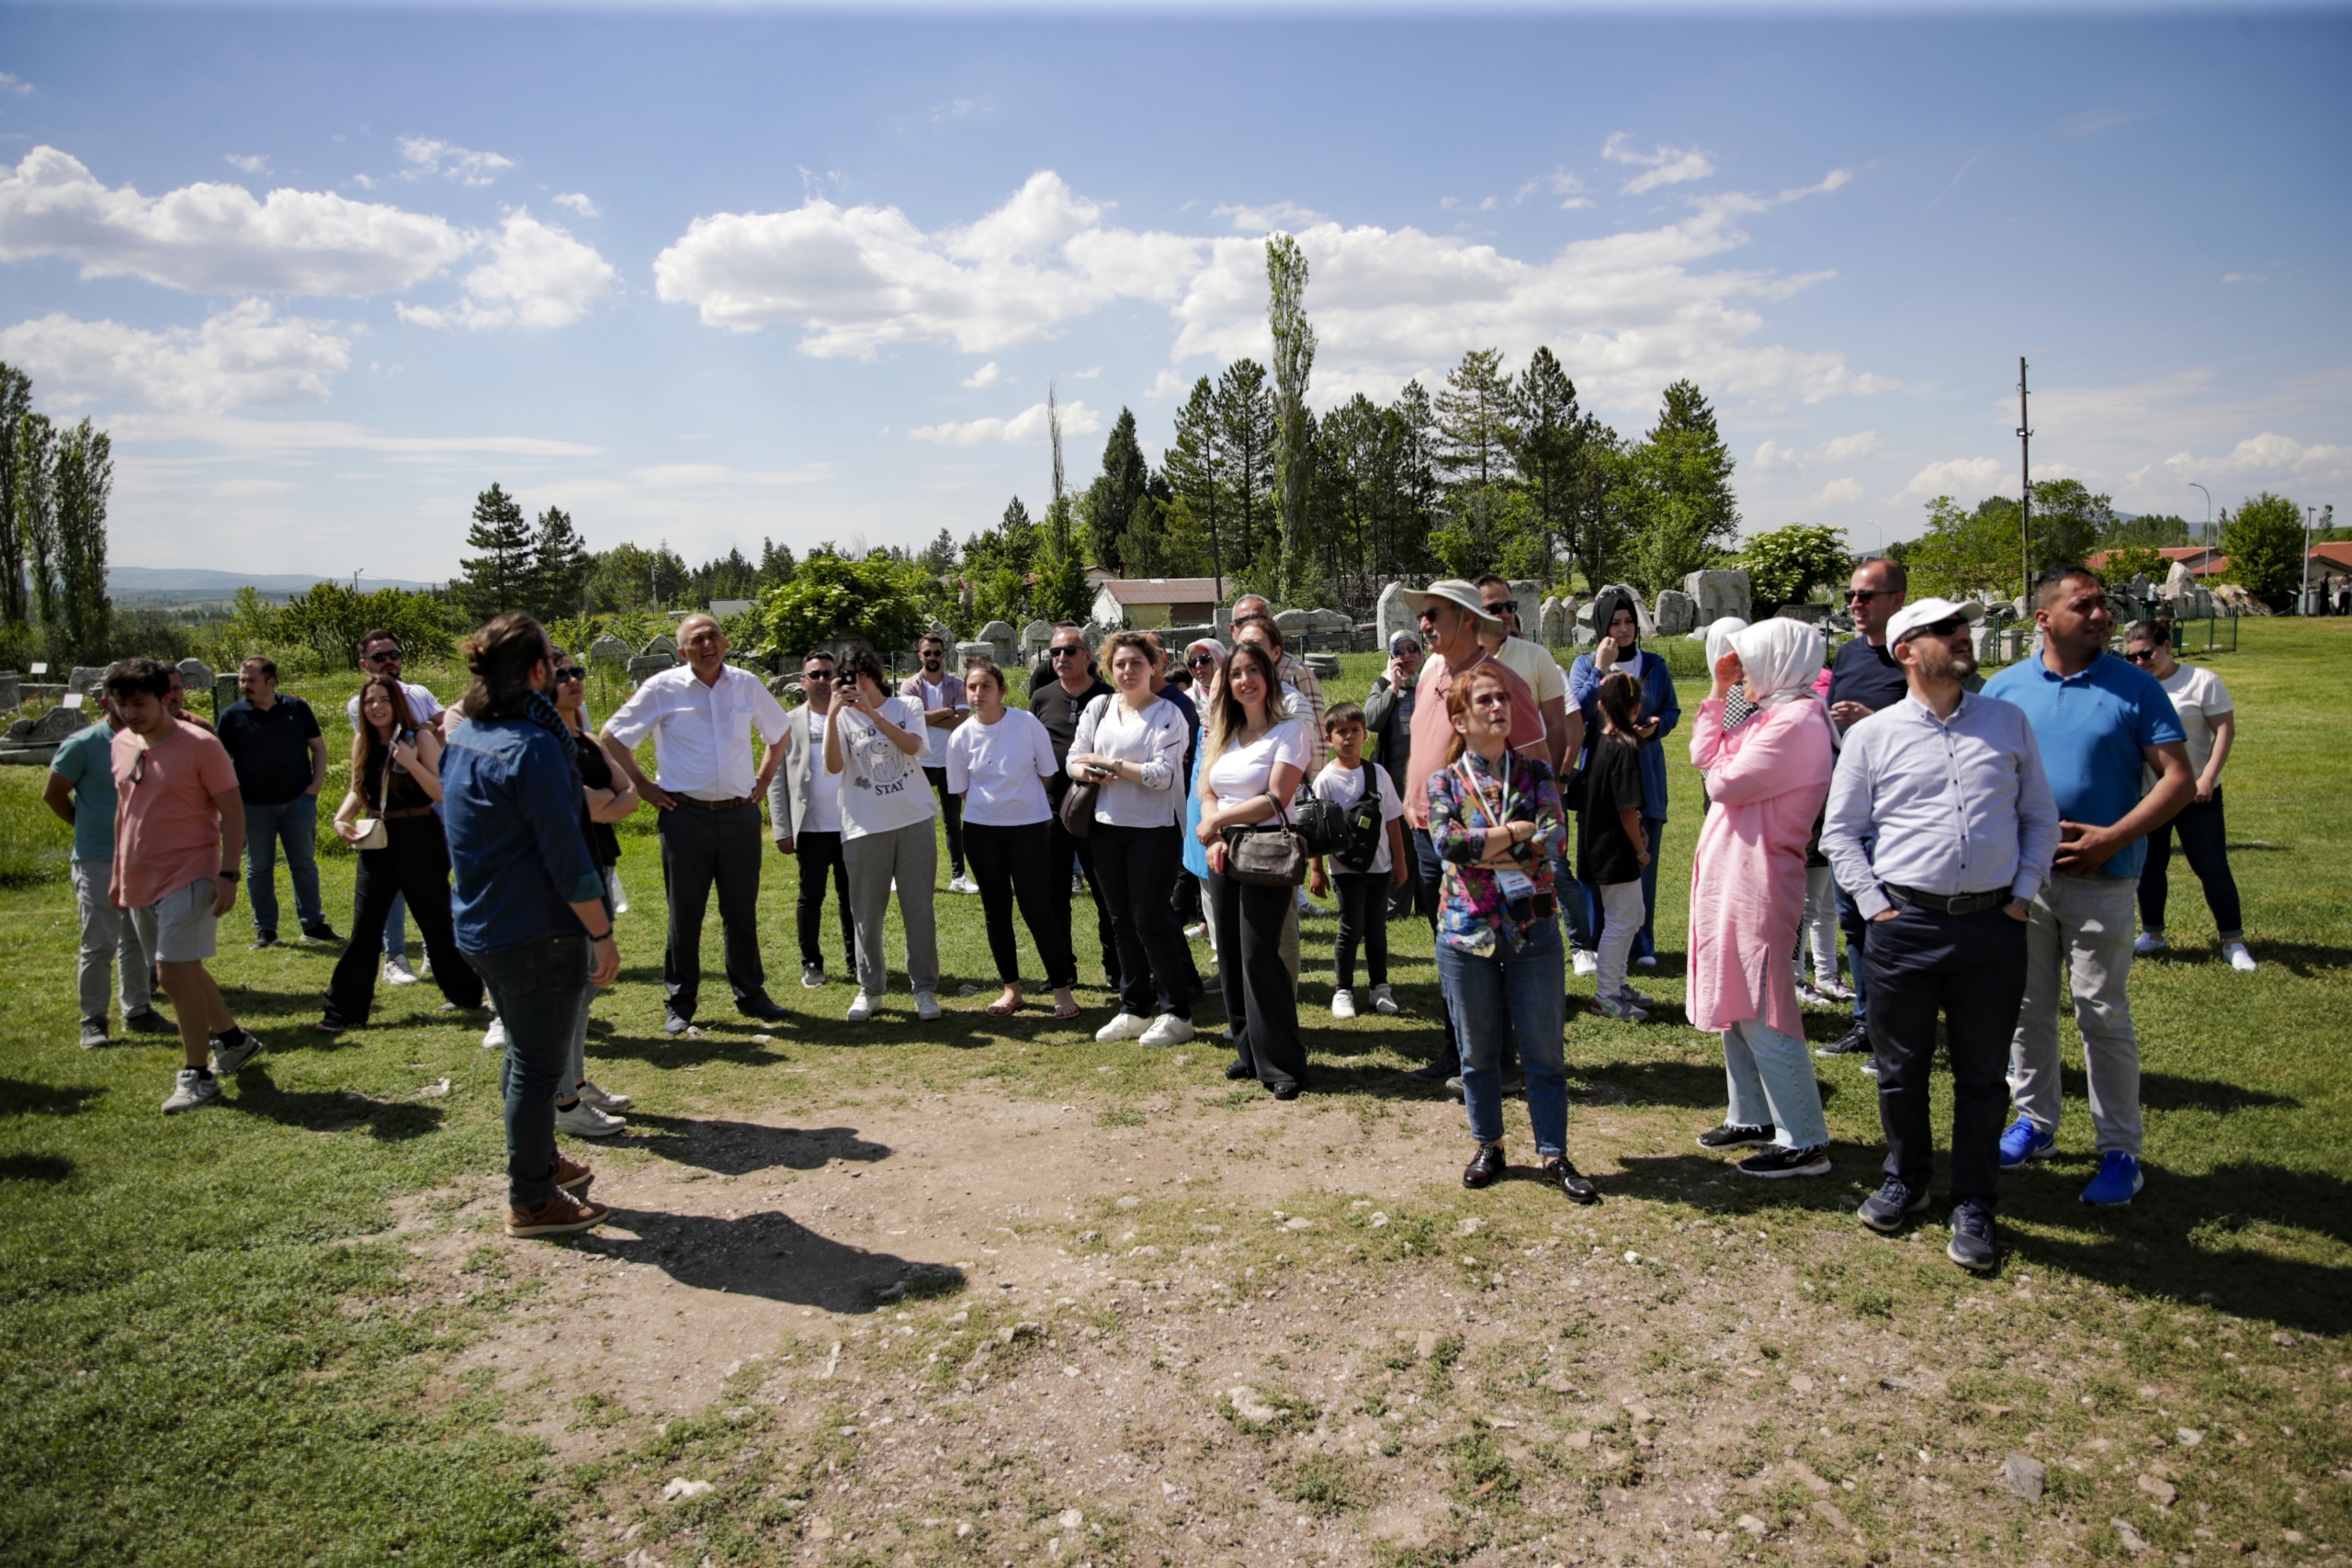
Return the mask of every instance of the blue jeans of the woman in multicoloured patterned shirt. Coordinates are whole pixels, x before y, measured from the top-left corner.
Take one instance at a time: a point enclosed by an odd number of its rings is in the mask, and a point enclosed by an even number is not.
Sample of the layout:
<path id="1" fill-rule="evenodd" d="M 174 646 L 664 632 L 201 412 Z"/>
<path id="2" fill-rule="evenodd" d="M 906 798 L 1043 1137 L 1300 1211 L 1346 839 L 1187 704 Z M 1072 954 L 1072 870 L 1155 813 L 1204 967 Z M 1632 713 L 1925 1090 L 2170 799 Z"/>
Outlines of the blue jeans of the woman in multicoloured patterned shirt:
<path id="1" fill-rule="evenodd" d="M 1437 987 L 1461 1034 L 1463 1103 L 1470 1107 L 1470 1135 L 1479 1143 L 1503 1143 L 1503 1063 L 1517 1046 L 1536 1154 L 1552 1159 L 1569 1152 L 1564 957 L 1552 917 L 1529 926 L 1517 952 L 1498 945 L 1477 957 L 1437 943 Z"/>

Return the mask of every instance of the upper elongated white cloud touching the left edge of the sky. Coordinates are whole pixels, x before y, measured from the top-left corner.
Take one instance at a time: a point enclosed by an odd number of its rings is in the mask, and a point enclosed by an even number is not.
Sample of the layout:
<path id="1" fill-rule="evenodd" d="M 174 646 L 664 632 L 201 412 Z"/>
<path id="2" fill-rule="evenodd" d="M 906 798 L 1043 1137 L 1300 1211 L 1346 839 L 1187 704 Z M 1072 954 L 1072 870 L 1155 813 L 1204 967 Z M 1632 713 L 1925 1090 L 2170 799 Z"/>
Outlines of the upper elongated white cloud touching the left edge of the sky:
<path id="1" fill-rule="evenodd" d="M 5 169 L 5 165 L 0 165 Z M 195 183 L 108 190 L 56 148 L 0 172 L 0 261 L 64 256 L 82 277 L 143 277 L 191 294 L 386 294 L 473 249 L 445 219 L 327 190 Z"/>

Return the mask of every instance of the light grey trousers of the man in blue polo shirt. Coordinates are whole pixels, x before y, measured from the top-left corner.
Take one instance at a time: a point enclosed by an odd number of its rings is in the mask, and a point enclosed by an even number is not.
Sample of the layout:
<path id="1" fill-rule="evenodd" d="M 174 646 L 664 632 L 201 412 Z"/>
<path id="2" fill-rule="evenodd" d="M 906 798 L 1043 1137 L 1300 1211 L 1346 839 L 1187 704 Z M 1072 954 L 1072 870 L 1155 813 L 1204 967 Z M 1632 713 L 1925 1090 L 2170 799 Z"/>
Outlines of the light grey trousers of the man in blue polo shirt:
<path id="1" fill-rule="evenodd" d="M 2025 1006 L 2009 1041 L 2009 1098 L 2034 1131 L 2058 1131 L 2058 992 L 2091 1079 L 2098 1152 L 2140 1154 L 2140 1037 L 2131 1027 L 2133 877 L 2051 877 L 2025 926 Z"/>

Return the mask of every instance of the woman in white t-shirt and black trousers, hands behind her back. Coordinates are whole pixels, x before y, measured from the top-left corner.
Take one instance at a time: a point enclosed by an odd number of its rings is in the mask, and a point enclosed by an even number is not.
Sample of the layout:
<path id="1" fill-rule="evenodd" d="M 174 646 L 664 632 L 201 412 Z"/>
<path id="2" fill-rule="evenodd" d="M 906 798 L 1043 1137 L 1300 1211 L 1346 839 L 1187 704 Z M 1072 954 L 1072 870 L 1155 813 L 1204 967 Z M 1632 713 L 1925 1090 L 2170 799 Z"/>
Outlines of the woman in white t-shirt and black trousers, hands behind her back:
<path id="1" fill-rule="evenodd" d="M 1054 875 L 1054 806 L 1044 780 L 1054 776 L 1054 736 L 1037 715 L 1004 705 L 1004 672 L 985 658 L 964 665 L 971 717 L 948 736 L 948 795 L 964 797 L 964 865 L 981 884 L 988 952 L 997 959 L 1004 994 L 990 1018 L 1021 1011 L 1021 947 L 1014 943 L 1014 900 L 1037 943 L 1044 983 L 1054 987 L 1054 1018 L 1077 1018 L 1077 959 L 1070 957 L 1070 886 Z"/>

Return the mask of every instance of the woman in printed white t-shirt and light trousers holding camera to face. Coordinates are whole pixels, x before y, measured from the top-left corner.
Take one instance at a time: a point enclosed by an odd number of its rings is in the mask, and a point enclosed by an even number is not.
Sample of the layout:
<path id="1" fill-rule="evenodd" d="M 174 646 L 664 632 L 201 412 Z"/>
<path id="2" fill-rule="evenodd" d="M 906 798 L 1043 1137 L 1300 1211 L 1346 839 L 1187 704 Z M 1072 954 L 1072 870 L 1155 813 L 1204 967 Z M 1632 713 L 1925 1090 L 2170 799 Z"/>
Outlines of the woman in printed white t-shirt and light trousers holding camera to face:
<path id="1" fill-rule="evenodd" d="M 849 917 L 858 929 L 858 994 L 849 1023 L 873 1018 L 889 987 L 882 919 L 891 882 L 898 884 L 898 924 L 906 926 L 906 973 L 915 985 L 915 1016 L 938 1018 L 938 931 L 931 924 L 931 882 L 938 877 L 938 835 L 931 785 L 922 776 L 922 708 L 891 696 L 882 661 L 868 646 L 842 654 L 849 679 L 833 698 L 826 724 L 826 771 L 842 776 L 842 865 L 849 870 Z"/>

